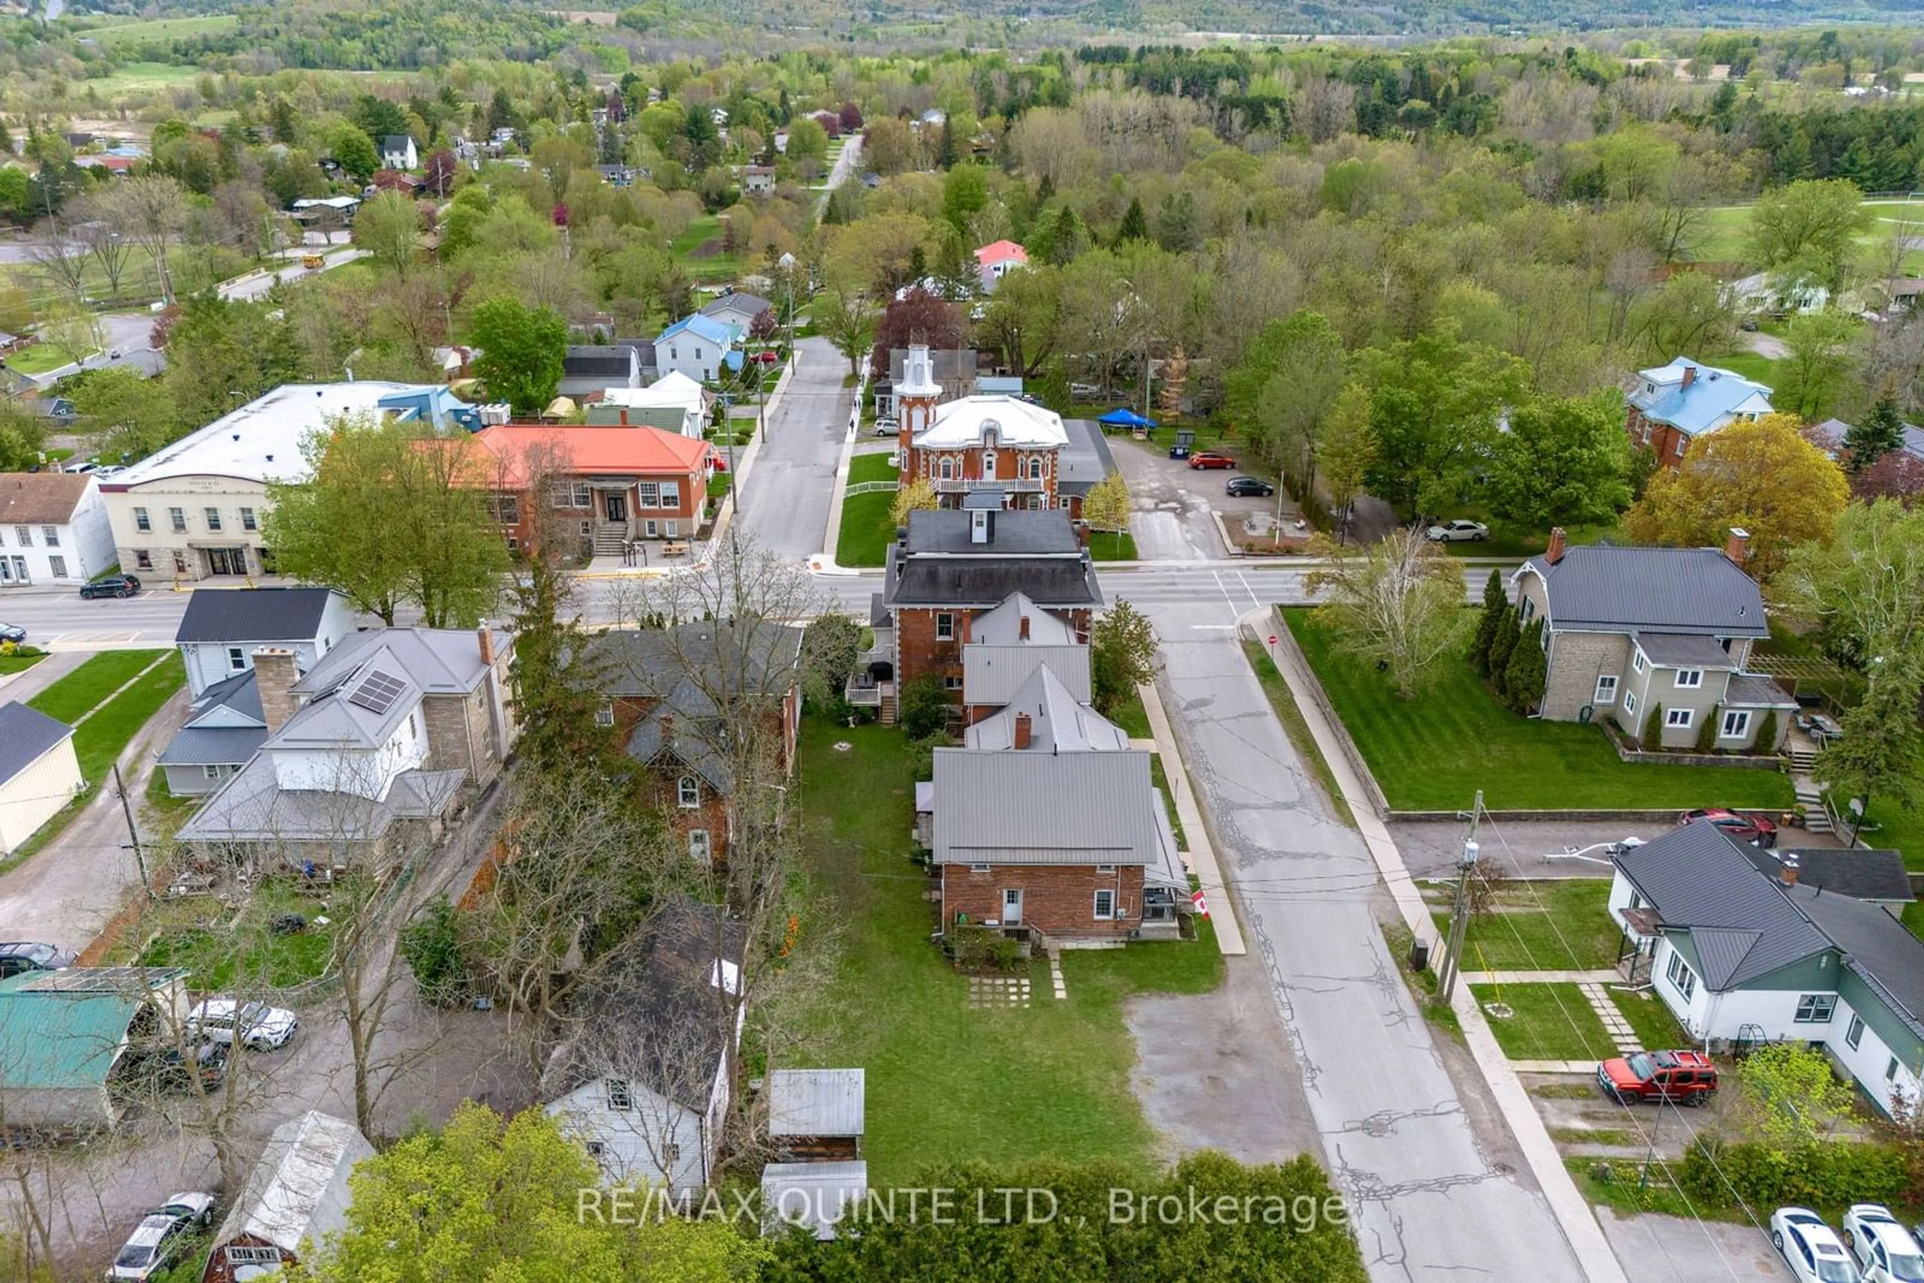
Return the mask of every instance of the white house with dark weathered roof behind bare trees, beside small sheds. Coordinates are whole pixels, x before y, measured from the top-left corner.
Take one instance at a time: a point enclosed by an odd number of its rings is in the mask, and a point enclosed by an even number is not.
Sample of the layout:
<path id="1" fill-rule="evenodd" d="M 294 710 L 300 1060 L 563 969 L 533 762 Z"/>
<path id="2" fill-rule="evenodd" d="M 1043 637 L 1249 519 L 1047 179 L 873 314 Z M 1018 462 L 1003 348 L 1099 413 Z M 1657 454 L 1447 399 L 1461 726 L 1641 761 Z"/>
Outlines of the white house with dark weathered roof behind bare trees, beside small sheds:
<path id="1" fill-rule="evenodd" d="M 548 1114 L 612 1187 L 698 1196 L 714 1181 L 741 1046 L 743 929 L 677 900 L 635 958 L 581 1002 L 543 1075 Z"/>

